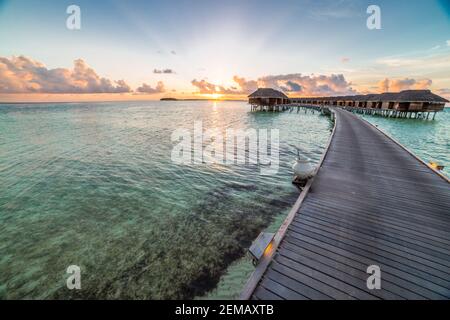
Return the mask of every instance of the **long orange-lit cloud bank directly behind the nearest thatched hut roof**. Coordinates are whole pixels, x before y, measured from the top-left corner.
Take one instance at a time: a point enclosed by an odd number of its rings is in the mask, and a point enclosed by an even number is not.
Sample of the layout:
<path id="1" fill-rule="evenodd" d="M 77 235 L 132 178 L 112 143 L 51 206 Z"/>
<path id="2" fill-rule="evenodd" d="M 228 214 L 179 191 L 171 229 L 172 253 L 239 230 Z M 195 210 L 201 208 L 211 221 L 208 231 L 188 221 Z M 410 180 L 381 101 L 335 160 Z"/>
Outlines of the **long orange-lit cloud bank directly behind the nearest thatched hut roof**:
<path id="1" fill-rule="evenodd" d="M 268 75 L 257 80 L 246 80 L 234 76 L 233 81 L 237 86 L 224 87 L 206 80 L 192 80 L 191 84 L 202 94 L 249 94 L 257 88 L 270 87 L 282 90 L 286 93 L 313 95 L 347 95 L 355 94 L 351 83 L 345 80 L 342 74 L 326 75 L 302 75 L 300 73 L 285 75 Z"/>

